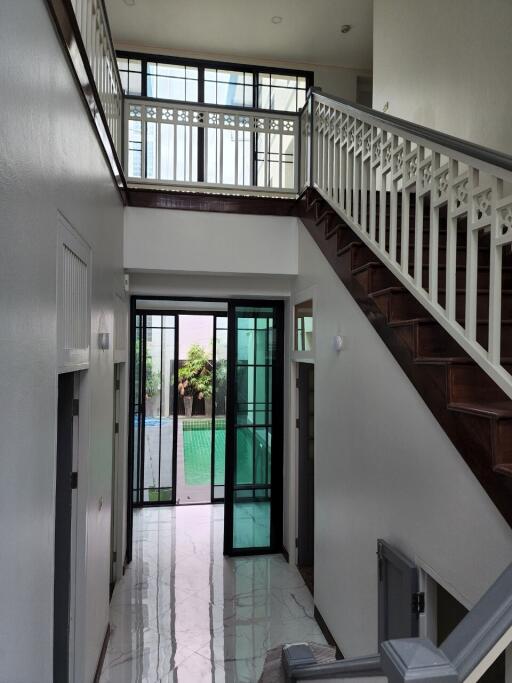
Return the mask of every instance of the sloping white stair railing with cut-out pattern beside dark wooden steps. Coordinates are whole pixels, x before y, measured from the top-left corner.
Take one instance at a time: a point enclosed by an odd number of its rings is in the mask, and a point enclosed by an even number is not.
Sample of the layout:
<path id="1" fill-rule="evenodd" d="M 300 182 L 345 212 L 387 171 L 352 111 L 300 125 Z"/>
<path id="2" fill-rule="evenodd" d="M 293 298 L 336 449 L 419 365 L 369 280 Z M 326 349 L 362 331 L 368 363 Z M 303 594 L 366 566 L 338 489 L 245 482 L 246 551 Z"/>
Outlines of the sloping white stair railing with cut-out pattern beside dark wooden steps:
<path id="1" fill-rule="evenodd" d="M 301 186 L 318 190 L 512 398 L 501 349 L 502 305 L 512 318 L 509 295 L 502 296 L 503 254 L 512 243 L 512 172 L 365 108 L 315 92 L 310 99 L 310 113 L 303 112 L 302 120 L 311 127 L 312 117 L 313 160 L 309 168 L 301 155 Z M 309 130 L 303 130 L 303 144 L 304 136 Z M 446 221 L 444 248 L 439 246 L 441 220 Z M 489 256 L 479 263 L 482 244 Z M 478 291 L 482 266 L 489 272 L 488 306 Z M 465 269 L 459 288 L 458 268 Z M 488 326 L 485 338 L 478 331 L 481 322 Z"/>

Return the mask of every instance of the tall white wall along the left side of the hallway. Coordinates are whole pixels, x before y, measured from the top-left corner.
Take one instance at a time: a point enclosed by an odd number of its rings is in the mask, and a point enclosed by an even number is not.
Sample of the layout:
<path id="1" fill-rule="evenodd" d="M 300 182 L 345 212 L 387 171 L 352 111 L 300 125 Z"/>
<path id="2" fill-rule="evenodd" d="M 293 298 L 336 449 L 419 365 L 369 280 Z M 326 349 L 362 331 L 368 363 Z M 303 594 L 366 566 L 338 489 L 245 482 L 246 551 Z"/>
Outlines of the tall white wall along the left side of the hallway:
<path id="1" fill-rule="evenodd" d="M 92 247 L 90 424 L 79 487 L 87 518 L 79 647 L 92 680 L 108 622 L 112 332 L 122 205 L 46 3 L 2 3 L 0 21 L 0 680 L 51 683 L 58 211 Z M 81 417 L 82 425 L 84 421 Z M 99 500 L 103 506 L 99 509 Z"/>

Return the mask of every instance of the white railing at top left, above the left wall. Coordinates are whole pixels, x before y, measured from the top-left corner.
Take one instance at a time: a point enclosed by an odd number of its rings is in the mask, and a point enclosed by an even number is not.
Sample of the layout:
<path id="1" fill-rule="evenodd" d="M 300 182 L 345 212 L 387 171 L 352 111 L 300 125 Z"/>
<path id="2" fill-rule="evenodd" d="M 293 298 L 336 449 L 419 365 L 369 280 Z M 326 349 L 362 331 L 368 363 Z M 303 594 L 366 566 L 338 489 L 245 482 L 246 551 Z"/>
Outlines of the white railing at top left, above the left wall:
<path id="1" fill-rule="evenodd" d="M 122 154 L 123 89 L 102 0 L 71 0 L 117 155 Z"/>

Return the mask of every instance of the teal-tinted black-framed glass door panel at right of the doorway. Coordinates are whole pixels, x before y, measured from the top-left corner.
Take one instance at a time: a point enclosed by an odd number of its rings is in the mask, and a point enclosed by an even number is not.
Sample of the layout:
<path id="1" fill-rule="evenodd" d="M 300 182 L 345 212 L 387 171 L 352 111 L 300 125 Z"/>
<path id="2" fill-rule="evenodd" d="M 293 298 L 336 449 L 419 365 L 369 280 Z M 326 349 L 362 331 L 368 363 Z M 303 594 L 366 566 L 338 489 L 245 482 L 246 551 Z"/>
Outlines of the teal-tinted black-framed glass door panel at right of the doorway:
<path id="1" fill-rule="evenodd" d="M 280 552 L 283 302 L 231 301 L 224 552 Z"/>

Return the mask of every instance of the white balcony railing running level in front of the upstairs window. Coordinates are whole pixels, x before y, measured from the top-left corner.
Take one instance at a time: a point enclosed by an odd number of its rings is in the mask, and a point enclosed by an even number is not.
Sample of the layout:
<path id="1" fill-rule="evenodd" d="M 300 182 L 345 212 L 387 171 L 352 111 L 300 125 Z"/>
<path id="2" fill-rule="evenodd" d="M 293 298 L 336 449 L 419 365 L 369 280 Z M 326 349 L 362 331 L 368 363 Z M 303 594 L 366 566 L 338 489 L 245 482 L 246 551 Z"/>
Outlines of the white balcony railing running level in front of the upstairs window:
<path id="1" fill-rule="evenodd" d="M 299 116 L 165 100 L 125 101 L 129 183 L 296 195 Z"/>

